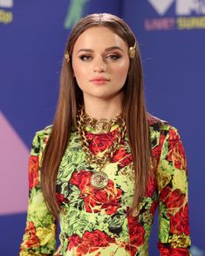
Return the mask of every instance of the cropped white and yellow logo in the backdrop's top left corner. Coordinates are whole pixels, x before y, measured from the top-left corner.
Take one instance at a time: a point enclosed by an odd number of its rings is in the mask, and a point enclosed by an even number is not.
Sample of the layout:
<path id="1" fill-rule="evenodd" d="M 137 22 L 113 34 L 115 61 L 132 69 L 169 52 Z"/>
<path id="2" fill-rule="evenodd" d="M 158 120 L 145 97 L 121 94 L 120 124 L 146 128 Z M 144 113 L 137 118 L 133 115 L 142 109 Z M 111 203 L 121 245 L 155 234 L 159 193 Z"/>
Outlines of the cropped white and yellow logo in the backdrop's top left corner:
<path id="1" fill-rule="evenodd" d="M 0 24 L 10 24 L 13 20 L 13 0 L 0 0 Z"/>

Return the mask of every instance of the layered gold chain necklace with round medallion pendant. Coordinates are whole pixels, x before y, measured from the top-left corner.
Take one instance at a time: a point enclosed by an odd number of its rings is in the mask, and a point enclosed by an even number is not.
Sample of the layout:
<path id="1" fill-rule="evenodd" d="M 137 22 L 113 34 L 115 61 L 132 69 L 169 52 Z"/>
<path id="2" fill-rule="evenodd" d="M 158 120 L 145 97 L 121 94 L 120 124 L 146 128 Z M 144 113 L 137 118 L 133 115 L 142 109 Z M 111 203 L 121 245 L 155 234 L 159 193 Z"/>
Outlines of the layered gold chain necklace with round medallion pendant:
<path id="1" fill-rule="evenodd" d="M 119 128 L 116 132 L 115 139 L 112 145 L 106 149 L 103 156 L 96 156 L 89 149 L 89 142 L 86 140 L 85 127 L 91 127 L 97 134 L 103 134 L 110 131 L 113 125 L 118 125 Z M 77 134 L 79 136 L 79 142 L 82 145 L 82 149 L 85 151 L 85 161 L 88 164 L 94 163 L 96 165 L 96 171 L 92 174 L 91 184 L 95 189 L 101 190 L 106 188 L 108 183 L 108 176 L 104 172 L 106 163 L 110 163 L 113 158 L 114 152 L 120 148 L 120 142 L 124 138 L 126 133 L 126 125 L 121 114 L 117 114 L 113 119 L 99 119 L 96 120 L 85 114 L 84 108 L 81 107 L 77 114 Z"/>

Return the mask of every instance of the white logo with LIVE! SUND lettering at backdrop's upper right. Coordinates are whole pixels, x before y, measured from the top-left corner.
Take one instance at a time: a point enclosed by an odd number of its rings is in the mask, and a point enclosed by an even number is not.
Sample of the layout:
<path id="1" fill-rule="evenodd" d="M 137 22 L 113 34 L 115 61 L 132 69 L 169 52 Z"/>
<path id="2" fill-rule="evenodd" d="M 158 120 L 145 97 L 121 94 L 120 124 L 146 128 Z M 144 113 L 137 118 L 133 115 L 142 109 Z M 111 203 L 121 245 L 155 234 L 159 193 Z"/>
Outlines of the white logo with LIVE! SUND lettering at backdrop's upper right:
<path id="1" fill-rule="evenodd" d="M 156 13 L 156 17 L 145 19 L 144 27 L 147 31 L 205 29 L 205 0 L 147 0 L 147 2 Z"/>

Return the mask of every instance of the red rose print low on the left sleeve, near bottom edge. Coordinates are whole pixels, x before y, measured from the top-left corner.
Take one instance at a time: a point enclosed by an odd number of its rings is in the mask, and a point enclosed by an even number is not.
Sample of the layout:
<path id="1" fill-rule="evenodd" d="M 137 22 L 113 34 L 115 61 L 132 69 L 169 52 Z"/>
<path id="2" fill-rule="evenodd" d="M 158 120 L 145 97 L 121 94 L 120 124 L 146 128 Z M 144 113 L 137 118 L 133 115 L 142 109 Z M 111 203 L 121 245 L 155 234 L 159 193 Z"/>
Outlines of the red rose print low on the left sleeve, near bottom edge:
<path id="1" fill-rule="evenodd" d="M 28 237 L 26 240 L 25 240 L 25 245 L 27 247 L 38 247 L 39 246 L 39 239 L 36 235 L 36 228 L 33 224 L 33 222 L 29 221 L 27 226 L 26 226 L 26 229 L 25 229 L 25 235 Z"/>

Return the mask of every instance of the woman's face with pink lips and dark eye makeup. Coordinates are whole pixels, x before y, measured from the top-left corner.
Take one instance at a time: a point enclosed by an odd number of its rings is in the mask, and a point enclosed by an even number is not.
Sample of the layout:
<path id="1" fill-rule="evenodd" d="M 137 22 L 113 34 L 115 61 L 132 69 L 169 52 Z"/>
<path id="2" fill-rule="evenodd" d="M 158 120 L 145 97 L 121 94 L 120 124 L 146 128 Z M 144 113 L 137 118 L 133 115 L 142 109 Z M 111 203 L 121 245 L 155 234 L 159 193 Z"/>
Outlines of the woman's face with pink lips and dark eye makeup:
<path id="1" fill-rule="evenodd" d="M 92 27 L 77 39 L 72 68 L 84 99 L 122 96 L 129 69 L 126 42 L 106 27 Z"/>

